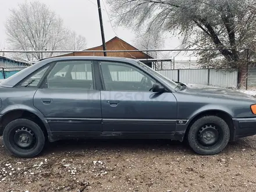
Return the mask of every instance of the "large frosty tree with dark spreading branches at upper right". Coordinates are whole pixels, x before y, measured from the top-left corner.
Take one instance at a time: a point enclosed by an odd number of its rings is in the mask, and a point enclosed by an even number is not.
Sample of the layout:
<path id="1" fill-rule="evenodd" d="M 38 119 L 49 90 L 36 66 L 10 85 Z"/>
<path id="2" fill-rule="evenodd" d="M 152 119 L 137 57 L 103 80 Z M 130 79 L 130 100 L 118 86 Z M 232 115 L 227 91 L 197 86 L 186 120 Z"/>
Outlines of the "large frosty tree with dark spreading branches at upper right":
<path id="1" fill-rule="evenodd" d="M 184 48 L 218 48 L 198 52 L 202 63 L 239 67 L 243 51 L 255 48 L 256 2 L 254 0 L 108 0 L 119 24 L 137 30 L 157 29 L 183 35 Z M 207 62 L 205 62 L 207 61 Z M 216 64 L 216 63 L 215 63 Z"/>

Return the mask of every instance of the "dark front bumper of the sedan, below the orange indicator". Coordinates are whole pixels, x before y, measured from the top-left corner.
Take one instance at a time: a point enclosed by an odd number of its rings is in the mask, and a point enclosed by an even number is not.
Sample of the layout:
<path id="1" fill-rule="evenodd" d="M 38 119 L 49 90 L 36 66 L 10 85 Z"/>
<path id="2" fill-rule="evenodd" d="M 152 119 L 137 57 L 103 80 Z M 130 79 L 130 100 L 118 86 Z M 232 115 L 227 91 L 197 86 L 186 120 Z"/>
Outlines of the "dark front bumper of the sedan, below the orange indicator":
<path id="1" fill-rule="evenodd" d="M 256 134 L 256 118 L 233 119 L 234 133 L 233 140 L 240 137 L 248 137 Z"/>

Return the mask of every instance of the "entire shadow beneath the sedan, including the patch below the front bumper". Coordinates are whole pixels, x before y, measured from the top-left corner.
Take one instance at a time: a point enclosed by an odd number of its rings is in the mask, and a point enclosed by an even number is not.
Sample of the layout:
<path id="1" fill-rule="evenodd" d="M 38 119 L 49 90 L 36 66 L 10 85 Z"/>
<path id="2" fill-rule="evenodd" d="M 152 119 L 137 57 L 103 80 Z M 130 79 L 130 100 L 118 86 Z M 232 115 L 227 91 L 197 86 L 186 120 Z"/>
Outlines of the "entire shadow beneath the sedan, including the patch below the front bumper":
<path id="1" fill-rule="evenodd" d="M 223 152 L 232 153 L 235 151 L 242 151 L 244 148 L 247 150 L 255 150 L 256 145 L 254 145 L 256 137 L 240 138 L 237 141 L 230 142 Z M 108 139 L 108 140 L 60 140 L 54 143 L 48 143 L 45 147 L 42 155 L 48 154 L 61 154 L 66 152 L 168 152 L 176 154 L 186 154 L 186 155 L 196 155 L 186 142 L 180 141 L 170 141 L 170 140 L 118 140 L 118 139 Z"/>

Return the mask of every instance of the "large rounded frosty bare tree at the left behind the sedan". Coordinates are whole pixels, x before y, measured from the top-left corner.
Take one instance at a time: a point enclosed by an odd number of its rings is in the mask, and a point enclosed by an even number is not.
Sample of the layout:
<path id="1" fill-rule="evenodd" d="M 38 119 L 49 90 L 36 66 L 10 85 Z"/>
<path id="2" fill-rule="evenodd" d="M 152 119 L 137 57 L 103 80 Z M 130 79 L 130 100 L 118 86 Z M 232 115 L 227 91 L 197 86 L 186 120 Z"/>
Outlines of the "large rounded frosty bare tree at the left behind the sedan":
<path id="1" fill-rule="evenodd" d="M 19 4 L 11 9 L 6 21 L 6 35 L 9 47 L 23 51 L 58 50 L 67 38 L 62 19 L 47 5 L 39 1 Z M 42 59 L 52 53 L 20 55 L 27 60 Z"/>

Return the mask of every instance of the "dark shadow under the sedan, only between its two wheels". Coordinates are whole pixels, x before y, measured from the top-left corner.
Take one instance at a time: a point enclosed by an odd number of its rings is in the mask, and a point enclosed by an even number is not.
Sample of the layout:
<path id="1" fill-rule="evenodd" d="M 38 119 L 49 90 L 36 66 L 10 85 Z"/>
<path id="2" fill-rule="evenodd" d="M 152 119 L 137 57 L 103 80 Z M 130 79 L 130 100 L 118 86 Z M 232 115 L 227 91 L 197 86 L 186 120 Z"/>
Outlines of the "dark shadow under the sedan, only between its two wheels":
<path id="1" fill-rule="evenodd" d="M 130 140 L 130 139 L 109 139 L 109 140 L 60 140 L 48 143 L 43 154 L 79 151 L 168 151 L 193 153 L 186 143 L 170 140 Z"/>

